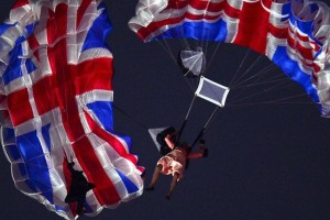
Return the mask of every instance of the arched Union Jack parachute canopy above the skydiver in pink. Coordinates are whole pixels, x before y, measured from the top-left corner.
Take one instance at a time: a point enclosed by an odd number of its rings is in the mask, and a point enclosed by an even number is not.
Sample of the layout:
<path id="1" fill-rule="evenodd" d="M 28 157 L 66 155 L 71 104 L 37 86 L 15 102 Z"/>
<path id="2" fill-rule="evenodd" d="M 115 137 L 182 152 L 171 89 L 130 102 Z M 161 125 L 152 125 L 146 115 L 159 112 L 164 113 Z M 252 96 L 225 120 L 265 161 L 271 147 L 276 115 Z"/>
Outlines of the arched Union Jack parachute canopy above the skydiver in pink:
<path id="1" fill-rule="evenodd" d="M 144 42 L 233 43 L 266 55 L 330 117 L 330 9 L 309 0 L 140 0 L 129 26 Z"/>

